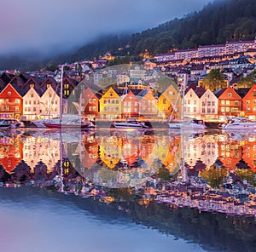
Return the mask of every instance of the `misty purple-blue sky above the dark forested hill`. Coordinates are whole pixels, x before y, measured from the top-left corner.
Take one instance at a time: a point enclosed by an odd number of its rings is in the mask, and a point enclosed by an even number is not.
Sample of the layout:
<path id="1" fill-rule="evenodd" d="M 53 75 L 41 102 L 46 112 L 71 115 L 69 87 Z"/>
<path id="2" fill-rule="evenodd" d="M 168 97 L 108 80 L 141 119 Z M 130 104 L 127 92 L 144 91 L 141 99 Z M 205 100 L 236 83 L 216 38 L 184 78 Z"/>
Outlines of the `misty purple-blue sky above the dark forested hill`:
<path id="1" fill-rule="evenodd" d="M 0 0 L 0 54 L 84 45 L 100 34 L 143 31 L 212 0 Z"/>

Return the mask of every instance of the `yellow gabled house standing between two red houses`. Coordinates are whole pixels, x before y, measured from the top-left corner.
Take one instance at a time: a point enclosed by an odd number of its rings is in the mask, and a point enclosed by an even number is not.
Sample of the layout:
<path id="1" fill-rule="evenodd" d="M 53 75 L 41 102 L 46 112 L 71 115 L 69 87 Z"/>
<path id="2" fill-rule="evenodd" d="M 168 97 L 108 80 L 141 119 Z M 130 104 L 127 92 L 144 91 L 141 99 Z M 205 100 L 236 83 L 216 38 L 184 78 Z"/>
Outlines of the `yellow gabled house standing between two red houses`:
<path id="1" fill-rule="evenodd" d="M 113 88 L 102 95 L 100 99 L 100 115 L 102 119 L 114 120 L 121 117 L 121 98 Z"/>

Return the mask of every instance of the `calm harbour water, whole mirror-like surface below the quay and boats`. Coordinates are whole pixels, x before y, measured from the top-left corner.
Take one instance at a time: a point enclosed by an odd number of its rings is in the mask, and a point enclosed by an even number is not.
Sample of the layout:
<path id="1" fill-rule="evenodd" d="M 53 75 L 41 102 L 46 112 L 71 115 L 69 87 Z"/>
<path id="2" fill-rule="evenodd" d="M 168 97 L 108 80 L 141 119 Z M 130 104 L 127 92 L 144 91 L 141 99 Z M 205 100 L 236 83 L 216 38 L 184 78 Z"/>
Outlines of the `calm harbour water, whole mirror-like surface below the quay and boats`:
<path id="1" fill-rule="evenodd" d="M 255 160 L 247 132 L 2 131 L 2 249 L 254 251 Z"/>

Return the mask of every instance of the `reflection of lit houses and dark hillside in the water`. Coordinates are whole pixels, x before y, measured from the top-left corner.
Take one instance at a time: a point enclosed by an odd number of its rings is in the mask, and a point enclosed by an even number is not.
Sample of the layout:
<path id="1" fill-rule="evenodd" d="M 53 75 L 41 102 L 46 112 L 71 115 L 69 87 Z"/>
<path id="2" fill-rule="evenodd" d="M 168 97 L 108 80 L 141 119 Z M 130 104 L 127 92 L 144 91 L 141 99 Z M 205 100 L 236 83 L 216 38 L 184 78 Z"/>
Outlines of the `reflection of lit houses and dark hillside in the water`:
<path id="1" fill-rule="evenodd" d="M 4 187 L 46 186 L 65 195 L 94 198 L 166 233 L 176 233 L 174 220 L 161 216 L 170 211 L 173 216 L 183 215 L 176 216 L 179 224 L 189 215 L 198 226 L 212 216 L 218 227 L 221 220 L 230 230 L 235 224 L 236 229 L 248 223 L 255 225 L 249 220 L 256 216 L 256 137 L 249 134 L 97 129 L 80 135 L 49 129 L 9 130 L 3 131 L 0 138 L 0 163 L 0 185 Z M 148 216 L 156 210 L 161 214 L 154 215 L 149 224 Z M 222 214 L 236 218 L 224 221 Z M 160 216 L 168 220 L 169 227 Z M 239 221 L 239 216 L 250 218 Z M 190 227 L 191 231 L 193 225 Z M 176 234 L 187 239 L 184 233 L 181 227 Z M 216 246 L 193 235 L 191 239 Z M 222 242 L 229 243 L 229 238 Z"/>

